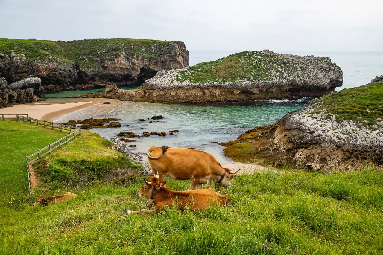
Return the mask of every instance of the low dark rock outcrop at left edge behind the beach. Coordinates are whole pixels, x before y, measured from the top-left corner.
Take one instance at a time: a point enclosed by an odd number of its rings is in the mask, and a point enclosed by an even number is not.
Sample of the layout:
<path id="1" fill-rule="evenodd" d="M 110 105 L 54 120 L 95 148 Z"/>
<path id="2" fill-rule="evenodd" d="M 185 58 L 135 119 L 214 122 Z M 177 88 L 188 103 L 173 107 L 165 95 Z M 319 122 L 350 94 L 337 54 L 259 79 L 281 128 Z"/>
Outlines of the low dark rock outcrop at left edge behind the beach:
<path id="1" fill-rule="evenodd" d="M 0 108 L 41 101 L 43 90 L 40 78 L 26 78 L 9 85 L 4 78 L 0 78 Z"/>

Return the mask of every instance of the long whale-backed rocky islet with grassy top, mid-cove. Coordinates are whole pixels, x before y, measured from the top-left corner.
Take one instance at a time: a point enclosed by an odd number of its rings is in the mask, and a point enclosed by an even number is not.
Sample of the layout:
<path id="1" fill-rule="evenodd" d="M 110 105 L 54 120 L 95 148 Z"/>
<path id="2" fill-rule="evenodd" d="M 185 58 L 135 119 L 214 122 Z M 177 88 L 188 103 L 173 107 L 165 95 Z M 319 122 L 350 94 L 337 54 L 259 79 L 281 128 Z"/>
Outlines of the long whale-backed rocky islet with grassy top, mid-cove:
<path id="1" fill-rule="evenodd" d="M 244 51 L 181 70 L 159 71 L 137 89 L 119 90 L 110 98 L 194 103 L 296 99 L 329 94 L 342 82 L 342 70 L 328 57 Z M 106 94 L 87 95 L 92 96 Z"/>

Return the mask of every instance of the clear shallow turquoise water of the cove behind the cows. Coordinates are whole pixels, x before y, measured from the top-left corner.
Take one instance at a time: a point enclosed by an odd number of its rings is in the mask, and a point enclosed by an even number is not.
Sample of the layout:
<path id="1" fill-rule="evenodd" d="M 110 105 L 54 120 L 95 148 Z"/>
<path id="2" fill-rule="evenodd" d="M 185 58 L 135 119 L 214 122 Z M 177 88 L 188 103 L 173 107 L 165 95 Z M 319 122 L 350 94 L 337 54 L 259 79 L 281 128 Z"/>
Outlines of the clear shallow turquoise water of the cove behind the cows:
<path id="1" fill-rule="evenodd" d="M 272 100 L 247 101 L 241 103 L 216 104 L 163 104 L 145 102 L 123 102 L 111 100 L 110 105 L 102 103 L 83 108 L 66 114 L 56 122 L 66 122 L 69 119 L 85 118 L 120 118 L 121 128 L 94 128 L 104 137 L 116 136 L 121 131 L 131 131 L 142 135 L 142 132 L 167 132 L 167 136 L 150 136 L 136 139 L 132 150 L 146 154 L 151 146 L 167 145 L 170 147 L 193 147 L 213 154 L 220 162 L 230 159 L 223 156 L 224 147 L 211 142 L 226 142 L 235 139 L 246 130 L 255 126 L 272 124 L 286 113 L 302 108 L 309 99 L 298 101 Z M 149 123 L 138 119 L 162 115 L 164 119 Z M 126 127 L 126 125 L 130 125 Z M 169 131 L 177 129 L 180 132 L 169 135 Z"/>

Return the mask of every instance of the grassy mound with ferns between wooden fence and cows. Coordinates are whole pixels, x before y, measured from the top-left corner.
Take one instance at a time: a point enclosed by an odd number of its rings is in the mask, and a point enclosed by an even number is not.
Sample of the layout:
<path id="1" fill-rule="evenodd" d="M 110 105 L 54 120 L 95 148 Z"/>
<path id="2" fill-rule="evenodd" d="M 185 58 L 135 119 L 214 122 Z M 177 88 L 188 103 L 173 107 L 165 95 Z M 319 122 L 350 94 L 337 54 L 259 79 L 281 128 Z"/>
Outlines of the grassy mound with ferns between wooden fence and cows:
<path id="1" fill-rule="evenodd" d="M 112 145 L 96 133 L 82 131 L 67 148 L 33 163 L 40 188 L 52 192 L 75 189 L 94 181 L 115 180 L 139 172 L 142 165 L 111 149 Z"/>

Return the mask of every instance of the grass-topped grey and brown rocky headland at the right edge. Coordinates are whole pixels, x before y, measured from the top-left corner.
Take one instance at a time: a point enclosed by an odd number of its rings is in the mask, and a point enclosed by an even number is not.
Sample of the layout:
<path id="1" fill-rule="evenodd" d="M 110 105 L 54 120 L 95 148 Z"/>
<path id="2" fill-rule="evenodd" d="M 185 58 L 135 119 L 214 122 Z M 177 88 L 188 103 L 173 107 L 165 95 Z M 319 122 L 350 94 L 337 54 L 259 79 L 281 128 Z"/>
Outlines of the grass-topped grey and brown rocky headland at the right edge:
<path id="1" fill-rule="evenodd" d="M 383 76 L 314 99 L 272 126 L 256 127 L 222 145 L 228 157 L 247 148 L 254 161 L 288 162 L 321 172 L 360 170 L 369 163 L 383 167 Z"/>

